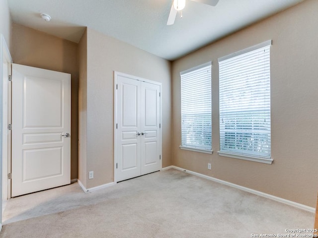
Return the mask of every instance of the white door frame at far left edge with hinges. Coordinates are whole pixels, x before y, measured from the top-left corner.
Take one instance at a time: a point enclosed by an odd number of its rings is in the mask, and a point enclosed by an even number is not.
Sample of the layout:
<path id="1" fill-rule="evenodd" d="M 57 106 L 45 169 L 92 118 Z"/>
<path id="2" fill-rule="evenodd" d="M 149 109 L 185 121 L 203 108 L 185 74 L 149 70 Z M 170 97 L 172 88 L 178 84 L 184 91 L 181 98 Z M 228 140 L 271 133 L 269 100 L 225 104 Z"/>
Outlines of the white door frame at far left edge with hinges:
<path id="1" fill-rule="evenodd" d="M 8 80 L 8 76 L 11 75 L 11 63 L 12 58 L 9 52 L 9 48 L 7 47 L 5 43 L 4 36 L 0 35 L 0 91 L 1 95 L 7 95 L 7 103 L 3 107 L 3 96 L 0 98 L 0 111 L 2 114 L 2 118 L 7 118 L 7 123 L 11 123 L 10 121 L 10 109 L 11 109 L 11 84 Z M 7 75 L 3 76 L 3 64 L 6 64 L 7 66 Z M 5 87 L 3 87 L 3 82 L 7 82 L 5 84 Z M 10 171 L 9 166 L 11 165 L 11 134 L 10 131 L 8 131 L 8 136 L 3 135 L 3 131 L 7 130 L 7 125 L 3 123 L 3 120 L 1 119 L 1 134 L 0 134 L 0 230 L 2 227 L 2 201 L 6 201 L 10 197 L 10 183 L 9 179 L 7 177 L 8 171 Z M 2 146 L 5 146 L 6 148 L 2 148 Z M 6 157 L 2 158 L 3 152 L 6 151 Z"/>

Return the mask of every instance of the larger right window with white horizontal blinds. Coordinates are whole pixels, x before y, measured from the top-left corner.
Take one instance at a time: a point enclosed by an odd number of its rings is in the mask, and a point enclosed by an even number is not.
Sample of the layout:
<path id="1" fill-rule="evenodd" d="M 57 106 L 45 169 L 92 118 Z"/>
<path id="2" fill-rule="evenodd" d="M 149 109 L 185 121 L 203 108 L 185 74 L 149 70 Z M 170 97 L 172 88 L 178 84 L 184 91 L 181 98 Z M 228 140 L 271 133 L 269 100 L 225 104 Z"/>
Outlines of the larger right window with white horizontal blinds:
<path id="1" fill-rule="evenodd" d="M 219 155 L 271 164 L 271 41 L 219 59 Z"/>

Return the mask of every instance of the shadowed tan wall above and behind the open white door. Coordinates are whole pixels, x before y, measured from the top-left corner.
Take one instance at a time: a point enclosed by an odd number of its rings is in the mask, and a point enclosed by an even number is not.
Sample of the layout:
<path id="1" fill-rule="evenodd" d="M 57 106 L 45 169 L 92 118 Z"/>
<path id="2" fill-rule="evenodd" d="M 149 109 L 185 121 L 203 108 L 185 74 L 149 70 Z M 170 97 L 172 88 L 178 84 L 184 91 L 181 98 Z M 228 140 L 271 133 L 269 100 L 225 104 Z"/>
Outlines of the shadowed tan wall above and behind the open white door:
<path id="1" fill-rule="evenodd" d="M 71 179 L 78 178 L 78 44 L 12 24 L 14 63 L 71 73 Z"/>

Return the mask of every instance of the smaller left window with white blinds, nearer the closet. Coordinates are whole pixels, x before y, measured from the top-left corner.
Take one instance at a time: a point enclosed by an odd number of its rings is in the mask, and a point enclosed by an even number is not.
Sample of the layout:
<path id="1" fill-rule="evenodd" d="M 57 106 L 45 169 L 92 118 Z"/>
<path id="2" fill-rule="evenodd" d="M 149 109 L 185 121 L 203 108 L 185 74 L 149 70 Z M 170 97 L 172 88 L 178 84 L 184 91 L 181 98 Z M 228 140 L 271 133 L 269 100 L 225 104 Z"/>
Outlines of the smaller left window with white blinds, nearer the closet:
<path id="1" fill-rule="evenodd" d="M 211 62 L 181 76 L 181 149 L 212 153 Z"/>

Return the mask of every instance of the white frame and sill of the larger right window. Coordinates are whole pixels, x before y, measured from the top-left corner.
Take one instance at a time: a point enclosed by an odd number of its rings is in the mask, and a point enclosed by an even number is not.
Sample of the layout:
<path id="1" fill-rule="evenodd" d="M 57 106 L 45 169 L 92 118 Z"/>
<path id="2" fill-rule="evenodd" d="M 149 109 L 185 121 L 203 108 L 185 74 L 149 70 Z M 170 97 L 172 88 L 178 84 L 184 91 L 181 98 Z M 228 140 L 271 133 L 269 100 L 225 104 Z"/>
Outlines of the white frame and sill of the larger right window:
<path id="1" fill-rule="evenodd" d="M 220 62 L 221 61 L 224 61 L 224 60 L 229 60 L 229 59 L 232 59 L 232 58 L 235 58 L 237 56 L 241 56 L 245 53 L 249 53 L 249 52 L 252 52 L 252 51 L 255 51 L 255 50 L 258 50 L 260 48 L 264 48 L 264 47 L 269 47 L 269 64 L 270 64 L 270 46 L 272 45 L 272 41 L 269 40 L 269 41 L 265 41 L 263 43 L 260 43 L 258 45 L 255 45 L 255 46 L 252 46 L 252 47 L 249 47 L 249 48 L 246 48 L 246 49 L 243 49 L 241 51 L 238 51 L 238 52 L 235 52 L 233 54 L 230 54 L 230 55 L 227 55 L 225 57 L 221 57 L 218 59 L 218 62 L 219 62 L 219 80 L 220 80 Z M 269 75 L 270 75 L 270 69 L 269 69 Z M 220 83 L 220 81 L 219 81 Z M 270 76 L 269 76 L 269 84 L 270 84 Z M 220 85 L 220 84 L 219 84 Z M 220 90 L 221 87 L 219 87 L 219 90 Z M 221 93 L 219 92 L 219 115 L 221 113 L 221 103 L 220 103 L 220 95 Z M 270 98 L 270 91 L 269 91 L 269 98 Z M 269 105 L 270 105 L 270 101 L 269 101 Z M 270 116 L 270 111 L 269 111 L 269 116 Z M 269 125 L 269 130 L 270 130 L 270 133 L 269 135 L 271 135 L 271 125 Z M 226 133 L 224 131 L 224 133 Z M 220 135 L 220 151 L 218 151 L 218 154 L 220 156 L 225 156 L 225 157 L 230 157 L 230 158 L 236 158 L 236 159 L 241 159 L 241 160 L 247 160 L 247 161 L 253 161 L 253 162 L 259 162 L 259 163 L 264 163 L 264 164 L 272 164 L 273 162 L 273 159 L 271 157 L 271 149 L 270 149 L 270 152 L 269 152 L 269 157 L 267 156 L 254 156 L 254 155 L 248 155 L 248 153 L 240 153 L 239 150 L 237 151 L 234 151 L 234 150 L 222 150 L 222 144 L 221 144 L 221 136 L 222 136 L 222 133 L 221 133 L 221 118 L 220 118 L 220 124 L 219 124 L 219 135 Z M 270 139 L 270 143 L 271 143 L 271 139 Z M 254 144 L 253 144 L 254 145 Z M 265 158 L 266 157 L 266 158 Z"/>

